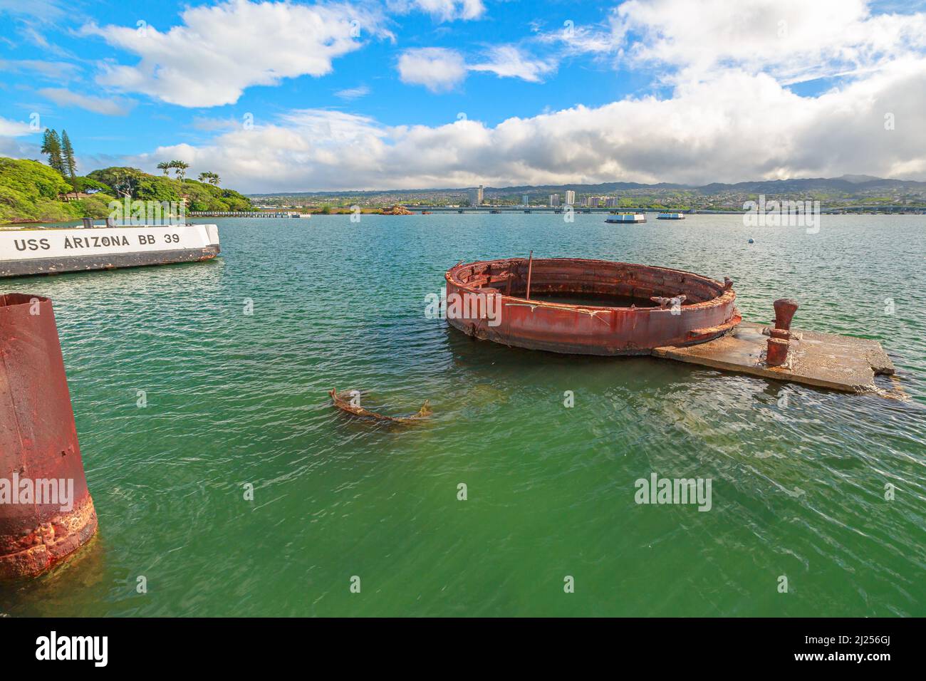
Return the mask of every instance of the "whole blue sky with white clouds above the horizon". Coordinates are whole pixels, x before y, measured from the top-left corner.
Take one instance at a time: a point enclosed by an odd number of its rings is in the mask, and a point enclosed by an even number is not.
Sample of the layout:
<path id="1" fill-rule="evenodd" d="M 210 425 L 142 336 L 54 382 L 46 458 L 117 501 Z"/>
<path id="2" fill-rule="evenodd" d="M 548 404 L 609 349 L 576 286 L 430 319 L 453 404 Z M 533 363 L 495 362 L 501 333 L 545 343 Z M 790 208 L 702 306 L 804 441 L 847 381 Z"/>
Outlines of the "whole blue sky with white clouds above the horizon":
<path id="1" fill-rule="evenodd" d="M 0 0 L 0 154 L 37 158 L 38 120 L 69 132 L 81 171 L 182 158 L 244 191 L 926 179 L 924 17 L 861 0 Z"/>

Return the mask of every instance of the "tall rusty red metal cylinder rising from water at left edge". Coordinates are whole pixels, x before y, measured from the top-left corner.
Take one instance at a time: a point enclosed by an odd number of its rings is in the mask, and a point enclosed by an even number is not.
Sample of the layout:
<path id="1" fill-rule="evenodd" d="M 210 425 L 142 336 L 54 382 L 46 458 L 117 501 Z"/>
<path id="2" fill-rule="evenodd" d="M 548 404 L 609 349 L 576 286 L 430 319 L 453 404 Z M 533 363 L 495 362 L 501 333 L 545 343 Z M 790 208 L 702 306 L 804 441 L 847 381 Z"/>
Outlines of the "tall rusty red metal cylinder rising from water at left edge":
<path id="1" fill-rule="evenodd" d="M 41 574 L 95 532 L 51 300 L 0 295 L 0 578 Z"/>

